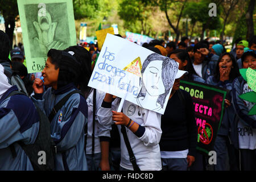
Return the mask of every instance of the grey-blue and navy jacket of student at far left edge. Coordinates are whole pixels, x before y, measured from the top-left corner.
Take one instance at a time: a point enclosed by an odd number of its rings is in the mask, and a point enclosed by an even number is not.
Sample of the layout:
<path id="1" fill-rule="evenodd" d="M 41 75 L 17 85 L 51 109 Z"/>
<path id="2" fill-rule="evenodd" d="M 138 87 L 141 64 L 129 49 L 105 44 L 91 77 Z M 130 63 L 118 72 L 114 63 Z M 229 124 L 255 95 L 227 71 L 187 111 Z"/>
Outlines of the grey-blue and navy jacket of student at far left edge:
<path id="1" fill-rule="evenodd" d="M 9 88 L 0 99 L 0 170 L 33 170 L 30 159 L 22 147 L 15 142 L 19 140 L 25 144 L 35 142 L 39 130 L 39 116 L 29 97 L 14 95 L 7 98 L 14 90 L 18 90 L 17 86 Z M 15 158 L 9 147 L 13 143 Z"/>

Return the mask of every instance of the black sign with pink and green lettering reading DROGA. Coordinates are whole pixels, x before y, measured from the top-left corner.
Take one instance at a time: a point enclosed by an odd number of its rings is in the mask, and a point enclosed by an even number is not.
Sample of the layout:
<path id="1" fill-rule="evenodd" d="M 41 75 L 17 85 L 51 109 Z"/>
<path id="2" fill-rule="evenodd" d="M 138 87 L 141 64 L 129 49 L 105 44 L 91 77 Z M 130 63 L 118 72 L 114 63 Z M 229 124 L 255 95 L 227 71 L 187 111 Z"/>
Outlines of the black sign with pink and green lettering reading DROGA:
<path id="1" fill-rule="evenodd" d="M 208 155 L 213 150 L 218 129 L 224 114 L 227 91 L 200 82 L 181 80 L 180 89 L 187 91 L 195 106 L 197 124 L 197 150 Z"/>

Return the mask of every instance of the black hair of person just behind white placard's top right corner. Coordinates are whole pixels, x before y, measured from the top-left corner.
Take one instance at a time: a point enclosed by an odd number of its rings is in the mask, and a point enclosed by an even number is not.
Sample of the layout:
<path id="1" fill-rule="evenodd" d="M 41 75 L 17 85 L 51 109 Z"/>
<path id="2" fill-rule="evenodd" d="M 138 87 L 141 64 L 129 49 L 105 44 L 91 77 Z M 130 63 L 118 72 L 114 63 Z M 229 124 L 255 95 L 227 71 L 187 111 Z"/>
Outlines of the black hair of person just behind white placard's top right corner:
<path id="1" fill-rule="evenodd" d="M 175 51 L 171 52 L 170 56 L 172 54 L 175 54 L 177 56 L 177 58 L 180 59 L 182 62 L 187 60 L 187 65 L 185 65 L 184 71 L 187 71 L 188 74 L 184 76 L 184 80 L 192 80 L 193 81 L 193 75 L 197 75 L 197 73 L 192 65 L 192 61 L 189 57 L 188 51 L 186 51 L 184 49 L 176 49 Z"/>

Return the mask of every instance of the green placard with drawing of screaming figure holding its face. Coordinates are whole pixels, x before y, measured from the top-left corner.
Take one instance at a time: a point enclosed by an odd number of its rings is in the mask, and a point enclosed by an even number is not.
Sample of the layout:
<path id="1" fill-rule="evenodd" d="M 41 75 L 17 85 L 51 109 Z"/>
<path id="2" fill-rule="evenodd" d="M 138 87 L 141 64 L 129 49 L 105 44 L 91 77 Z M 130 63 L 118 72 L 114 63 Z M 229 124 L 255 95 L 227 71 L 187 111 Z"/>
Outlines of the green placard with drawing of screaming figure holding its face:
<path id="1" fill-rule="evenodd" d="M 76 45 L 71 0 L 18 0 L 28 73 L 42 72 L 49 49 Z"/>

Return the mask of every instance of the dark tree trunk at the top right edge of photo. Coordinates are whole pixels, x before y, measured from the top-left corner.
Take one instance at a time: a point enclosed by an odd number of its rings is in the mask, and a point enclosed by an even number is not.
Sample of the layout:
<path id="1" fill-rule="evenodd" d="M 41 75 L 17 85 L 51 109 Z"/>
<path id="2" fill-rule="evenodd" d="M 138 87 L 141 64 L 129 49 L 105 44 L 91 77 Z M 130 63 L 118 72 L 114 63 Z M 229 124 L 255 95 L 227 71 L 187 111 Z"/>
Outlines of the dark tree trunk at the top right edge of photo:
<path id="1" fill-rule="evenodd" d="M 255 0 L 250 0 L 247 12 L 245 14 L 246 24 L 247 24 L 247 34 L 246 34 L 247 40 L 250 40 L 254 35 L 254 26 L 253 26 L 254 6 L 255 6 Z"/>

